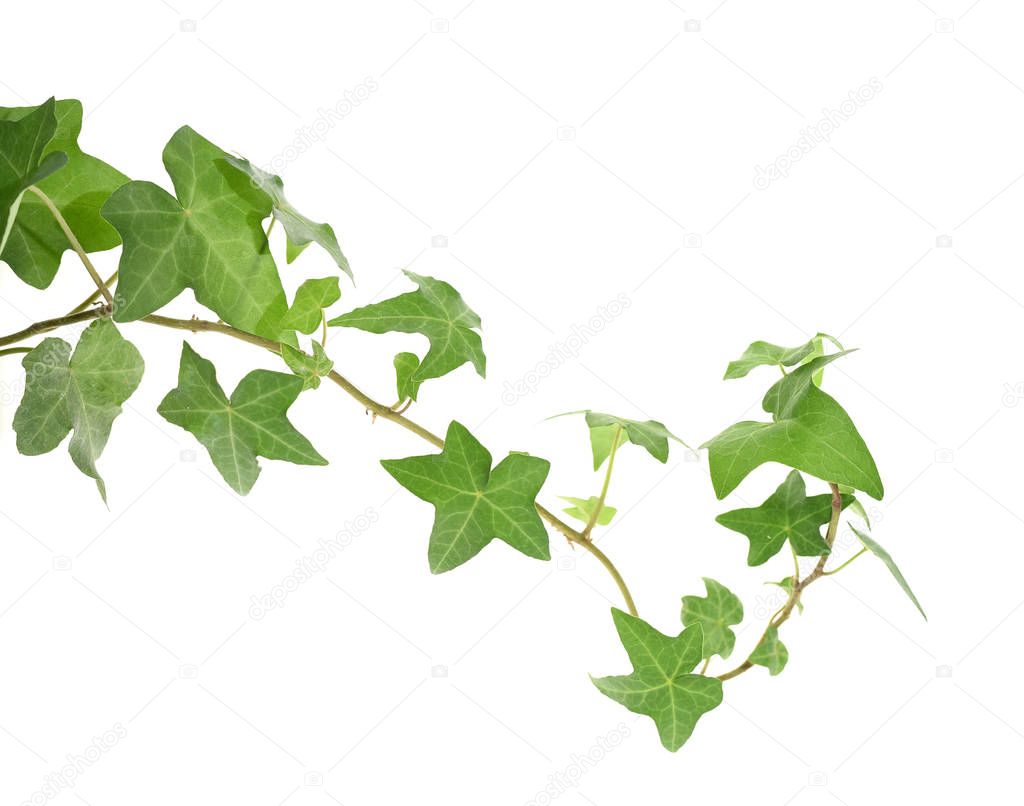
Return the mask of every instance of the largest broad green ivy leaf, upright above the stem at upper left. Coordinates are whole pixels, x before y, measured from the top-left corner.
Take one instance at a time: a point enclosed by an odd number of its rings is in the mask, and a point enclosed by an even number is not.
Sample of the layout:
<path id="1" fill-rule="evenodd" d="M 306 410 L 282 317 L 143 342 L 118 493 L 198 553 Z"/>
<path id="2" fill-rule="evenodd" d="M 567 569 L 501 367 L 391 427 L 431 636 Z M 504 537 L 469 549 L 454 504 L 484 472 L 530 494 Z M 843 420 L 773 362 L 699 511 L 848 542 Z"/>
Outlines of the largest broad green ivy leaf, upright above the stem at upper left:
<path id="1" fill-rule="evenodd" d="M 115 320 L 141 319 L 190 288 L 228 325 L 283 338 L 288 301 L 260 224 L 270 202 L 226 157 L 184 126 L 164 149 L 177 198 L 132 181 L 103 205 L 124 241 Z"/>

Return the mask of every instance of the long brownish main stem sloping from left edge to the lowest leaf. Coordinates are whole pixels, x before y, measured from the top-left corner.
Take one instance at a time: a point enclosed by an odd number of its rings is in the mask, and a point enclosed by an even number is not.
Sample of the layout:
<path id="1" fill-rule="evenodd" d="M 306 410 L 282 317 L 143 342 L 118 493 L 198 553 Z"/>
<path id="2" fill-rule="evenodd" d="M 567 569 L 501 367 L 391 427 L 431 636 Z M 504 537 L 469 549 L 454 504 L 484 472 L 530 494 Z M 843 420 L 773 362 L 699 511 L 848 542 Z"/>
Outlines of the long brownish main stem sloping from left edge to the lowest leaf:
<path id="1" fill-rule="evenodd" d="M 28 328 L 18 331 L 17 333 L 0 337 L 0 347 L 4 347 L 8 344 L 16 344 L 17 342 L 24 341 L 25 339 L 31 338 L 40 333 L 48 333 L 49 331 L 57 330 L 58 328 L 62 328 L 68 325 L 102 319 L 103 316 L 109 316 L 112 310 L 113 306 L 108 304 L 89 308 L 88 310 L 78 311 L 76 313 L 70 313 L 67 316 L 60 316 L 59 319 L 38 322 L 35 325 L 31 325 Z M 279 355 L 281 354 L 283 346 L 281 342 L 273 341 L 272 339 L 265 339 L 262 336 L 257 336 L 253 333 L 246 333 L 238 328 L 232 328 L 230 325 L 225 325 L 222 322 L 208 322 L 206 320 L 199 319 L 179 320 L 172 319 L 171 316 L 161 316 L 156 313 L 144 316 L 140 321 L 150 325 L 159 325 L 163 328 L 189 331 L 191 333 L 221 333 L 225 336 L 230 336 L 231 338 L 253 344 L 257 347 L 263 347 L 264 349 L 270 350 Z M 371 412 L 374 416 L 380 417 L 384 420 L 390 420 L 392 423 L 401 426 L 407 431 L 412 431 L 414 434 L 419 436 L 421 439 L 426 440 L 434 448 L 444 448 L 444 440 L 437 434 L 427 430 L 419 423 L 410 420 L 408 417 L 402 416 L 399 412 L 394 411 L 390 407 L 375 400 L 339 372 L 332 370 L 326 377 L 332 383 L 340 386 L 351 397 L 354 397 L 364 409 Z M 614 563 L 608 559 L 607 555 L 597 548 L 597 546 L 595 546 L 588 538 L 584 537 L 582 533 L 577 532 L 550 510 L 540 504 L 536 504 L 536 506 L 538 514 L 546 520 L 549 525 L 563 535 L 569 543 L 583 546 L 583 548 L 597 558 L 598 562 L 604 566 L 611 579 L 614 580 L 620 593 L 622 593 L 623 599 L 626 601 L 626 607 L 629 609 L 630 613 L 637 616 L 636 604 L 633 601 L 633 596 L 630 594 L 630 589 L 627 587 L 623 576 L 618 572 Z"/>

